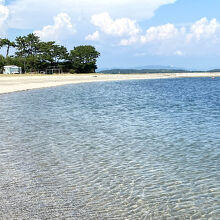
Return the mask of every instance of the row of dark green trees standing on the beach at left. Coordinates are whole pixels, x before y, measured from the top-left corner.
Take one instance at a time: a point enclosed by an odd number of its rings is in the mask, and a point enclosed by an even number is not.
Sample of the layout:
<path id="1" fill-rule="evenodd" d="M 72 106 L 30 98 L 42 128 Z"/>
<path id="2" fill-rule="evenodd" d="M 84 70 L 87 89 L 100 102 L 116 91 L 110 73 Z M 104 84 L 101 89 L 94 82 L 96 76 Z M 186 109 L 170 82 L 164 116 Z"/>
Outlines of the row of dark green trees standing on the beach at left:
<path id="1" fill-rule="evenodd" d="M 70 73 L 94 73 L 100 53 L 90 45 L 77 46 L 68 51 L 55 41 L 43 42 L 35 34 L 20 36 L 15 41 L 0 38 L 0 49 L 6 48 L 5 56 L 0 55 L 0 72 L 6 65 L 16 65 L 26 72 L 45 72 L 49 68 L 62 69 Z M 13 49 L 13 55 L 10 50 Z"/>

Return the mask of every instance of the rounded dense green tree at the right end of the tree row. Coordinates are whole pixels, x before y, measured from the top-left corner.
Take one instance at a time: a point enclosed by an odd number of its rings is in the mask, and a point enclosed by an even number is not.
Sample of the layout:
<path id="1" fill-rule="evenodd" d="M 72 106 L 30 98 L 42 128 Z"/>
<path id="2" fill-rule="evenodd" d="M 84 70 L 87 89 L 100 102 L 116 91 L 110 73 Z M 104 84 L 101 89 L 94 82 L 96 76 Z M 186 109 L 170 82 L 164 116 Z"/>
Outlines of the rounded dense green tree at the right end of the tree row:
<path id="1" fill-rule="evenodd" d="M 76 73 L 94 73 L 99 56 L 100 53 L 93 46 L 78 46 L 70 51 L 69 60 Z"/>

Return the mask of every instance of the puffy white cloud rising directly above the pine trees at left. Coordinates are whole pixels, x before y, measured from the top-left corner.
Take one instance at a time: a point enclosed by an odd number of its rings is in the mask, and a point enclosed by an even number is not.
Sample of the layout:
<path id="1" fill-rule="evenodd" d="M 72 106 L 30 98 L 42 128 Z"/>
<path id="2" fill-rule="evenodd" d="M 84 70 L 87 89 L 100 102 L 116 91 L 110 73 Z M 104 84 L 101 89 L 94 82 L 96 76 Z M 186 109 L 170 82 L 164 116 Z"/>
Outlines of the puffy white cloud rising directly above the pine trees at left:
<path id="1" fill-rule="evenodd" d="M 44 26 L 42 30 L 34 31 L 42 40 L 60 41 L 66 39 L 76 32 L 71 18 L 66 13 L 60 13 L 54 17 L 54 24 Z"/>

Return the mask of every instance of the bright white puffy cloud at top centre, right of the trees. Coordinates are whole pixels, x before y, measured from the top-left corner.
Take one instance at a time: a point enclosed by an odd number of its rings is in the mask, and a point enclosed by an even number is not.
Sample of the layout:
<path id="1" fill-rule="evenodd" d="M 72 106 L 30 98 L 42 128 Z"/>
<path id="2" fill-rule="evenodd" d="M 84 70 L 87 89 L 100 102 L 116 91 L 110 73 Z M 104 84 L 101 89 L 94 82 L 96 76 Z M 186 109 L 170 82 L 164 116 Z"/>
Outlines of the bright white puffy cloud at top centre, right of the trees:
<path id="1" fill-rule="evenodd" d="M 113 20 L 108 13 L 92 16 L 91 23 L 100 28 L 102 32 L 112 36 L 134 36 L 140 32 L 135 20 L 120 18 Z"/>

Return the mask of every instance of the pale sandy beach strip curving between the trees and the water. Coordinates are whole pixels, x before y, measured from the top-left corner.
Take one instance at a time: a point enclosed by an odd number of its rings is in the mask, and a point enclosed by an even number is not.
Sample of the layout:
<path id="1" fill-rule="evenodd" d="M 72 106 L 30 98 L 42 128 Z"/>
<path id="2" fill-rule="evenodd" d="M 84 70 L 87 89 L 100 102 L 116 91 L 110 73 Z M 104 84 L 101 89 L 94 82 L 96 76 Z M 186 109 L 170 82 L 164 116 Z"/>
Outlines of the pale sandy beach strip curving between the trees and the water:
<path id="1" fill-rule="evenodd" d="M 0 94 L 76 83 L 183 77 L 220 77 L 220 73 L 2 75 Z"/>

